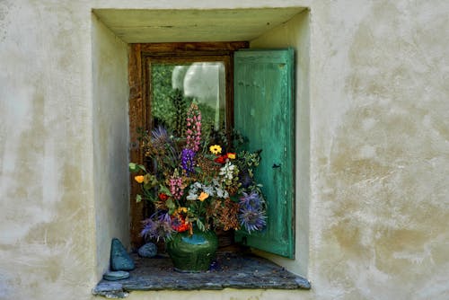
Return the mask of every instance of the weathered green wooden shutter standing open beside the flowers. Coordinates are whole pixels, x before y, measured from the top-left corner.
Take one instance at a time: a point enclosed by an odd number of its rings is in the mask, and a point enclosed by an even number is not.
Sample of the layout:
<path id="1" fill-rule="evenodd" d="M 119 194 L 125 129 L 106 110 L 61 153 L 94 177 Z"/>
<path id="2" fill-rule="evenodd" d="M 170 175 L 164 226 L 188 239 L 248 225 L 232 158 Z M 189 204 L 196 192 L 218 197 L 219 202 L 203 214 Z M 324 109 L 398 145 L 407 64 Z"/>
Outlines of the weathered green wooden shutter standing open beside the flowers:
<path id="1" fill-rule="evenodd" d="M 234 53 L 234 127 L 262 149 L 255 177 L 263 184 L 268 222 L 236 241 L 288 258 L 295 254 L 294 50 Z"/>

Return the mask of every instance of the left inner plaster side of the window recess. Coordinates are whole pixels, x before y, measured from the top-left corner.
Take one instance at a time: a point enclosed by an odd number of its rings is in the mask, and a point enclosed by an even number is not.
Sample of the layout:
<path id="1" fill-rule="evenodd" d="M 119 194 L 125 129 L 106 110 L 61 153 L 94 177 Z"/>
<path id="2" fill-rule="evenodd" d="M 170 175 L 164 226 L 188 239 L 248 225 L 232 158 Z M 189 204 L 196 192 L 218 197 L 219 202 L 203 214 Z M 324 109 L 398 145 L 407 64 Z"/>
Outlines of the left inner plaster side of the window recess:
<path id="1" fill-rule="evenodd" d="M 97 275 L 110 241 L 129 243 L 128 45 L 92 14 L 93 182 Z"/>

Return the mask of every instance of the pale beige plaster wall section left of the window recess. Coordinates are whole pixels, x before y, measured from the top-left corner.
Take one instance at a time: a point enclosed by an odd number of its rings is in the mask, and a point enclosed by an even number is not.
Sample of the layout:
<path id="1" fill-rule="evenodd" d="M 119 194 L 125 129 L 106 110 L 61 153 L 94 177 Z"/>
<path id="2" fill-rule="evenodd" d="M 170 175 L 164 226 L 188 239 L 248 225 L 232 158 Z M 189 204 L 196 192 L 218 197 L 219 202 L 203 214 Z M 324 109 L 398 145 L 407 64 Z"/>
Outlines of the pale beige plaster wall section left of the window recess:
<path id="1" fill-rule="evenodd" d="M 0 299 L 95 282 L 90 9 L 0 2 Z"/>

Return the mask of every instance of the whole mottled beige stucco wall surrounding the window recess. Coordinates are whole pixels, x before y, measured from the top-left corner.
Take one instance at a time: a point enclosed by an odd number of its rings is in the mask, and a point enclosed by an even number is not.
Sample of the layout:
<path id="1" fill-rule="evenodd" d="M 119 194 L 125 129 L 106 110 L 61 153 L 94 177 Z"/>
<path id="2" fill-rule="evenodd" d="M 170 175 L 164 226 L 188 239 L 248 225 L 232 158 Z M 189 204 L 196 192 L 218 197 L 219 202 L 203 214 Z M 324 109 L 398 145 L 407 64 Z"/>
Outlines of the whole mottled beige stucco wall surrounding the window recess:
<path id="1" fill-rule="evenodd" d="M 295 44 L 295 35 L 303 39 L 304 26 L 310 29 L 309 102 L 301 102 L 304 90 L 297 95 L 298 109 L 309 110 L 297 116 L 310 117 L 297 123 L 309 127 L 299 129 L 300 142 L 310 137 L 310 157 L 297 156 L 298 168 L 309 168 L 310 181 L 297 183 L 309 186 L 297 208 L 299 216 L 310 211 L 298 220 L 309 230 L 298 231 L 303 236 L 296 244 L 302 249 L 308 240 L 308 261 L 286 265 L 306 272 L 313 290 L 140 292 L 130 298 L 449 298 L 445 0 L 21 0 L 0 2 L 0 299 L 90 298 L 105 264 L 97 260 L 97 244 L 106 247 L 120 232 L 95 221 L 115 214 L 101 210 L 117 192 L 102 180 L 123 179 L 112 174 L 122 172 L 119 167 L 104 163 L 123 159 L 120 147 L 108 149 L 128 138 L 121 131 L 117 139 L 106 138 L 108 130 L 127 125 L 119 95 L 128 95 L 118 83 L 125 47 L 92 21 L 92 7 L 278 5 L 310 7 L 266 38 Z M 300 28 L 290 29 L 293 23 Z M 109 66 L 103 50 L 118 60 L 101 75 Z M 119 84 L 117 97 L 102 90 L 111 83 Z M 301 260 L 304 252 L 297 255 Z"/>

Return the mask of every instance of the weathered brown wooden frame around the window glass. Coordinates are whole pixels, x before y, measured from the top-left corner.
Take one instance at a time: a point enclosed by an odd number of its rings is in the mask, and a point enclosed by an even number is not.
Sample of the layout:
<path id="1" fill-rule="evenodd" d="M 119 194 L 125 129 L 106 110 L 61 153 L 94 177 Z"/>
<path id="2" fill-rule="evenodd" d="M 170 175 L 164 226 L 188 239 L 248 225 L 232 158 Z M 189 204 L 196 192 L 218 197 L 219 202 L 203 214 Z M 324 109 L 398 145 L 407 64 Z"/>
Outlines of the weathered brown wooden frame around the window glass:
<path id="1" fill-rule="evenodd" d="M 151 43 L 130 44 L 128 60 L 129 81 L 129 159 L 143 163 L 144 155 L 140 149 L 137 131 L 139 128 L 151 129 L 151 82 L 152 62 L 181 63 L 201 61 L 223 61 L 226 74 L 226 124 L 233 125 L 233 52 L 249 47 L 247 41 L 198 42 L 198 43 Z M 130 181 L 130 243 L 135 249 L 143 243 L 140 236 L 141 221 L 145 218 L 145 202 L 137 203 L 139 186 Z"/>

